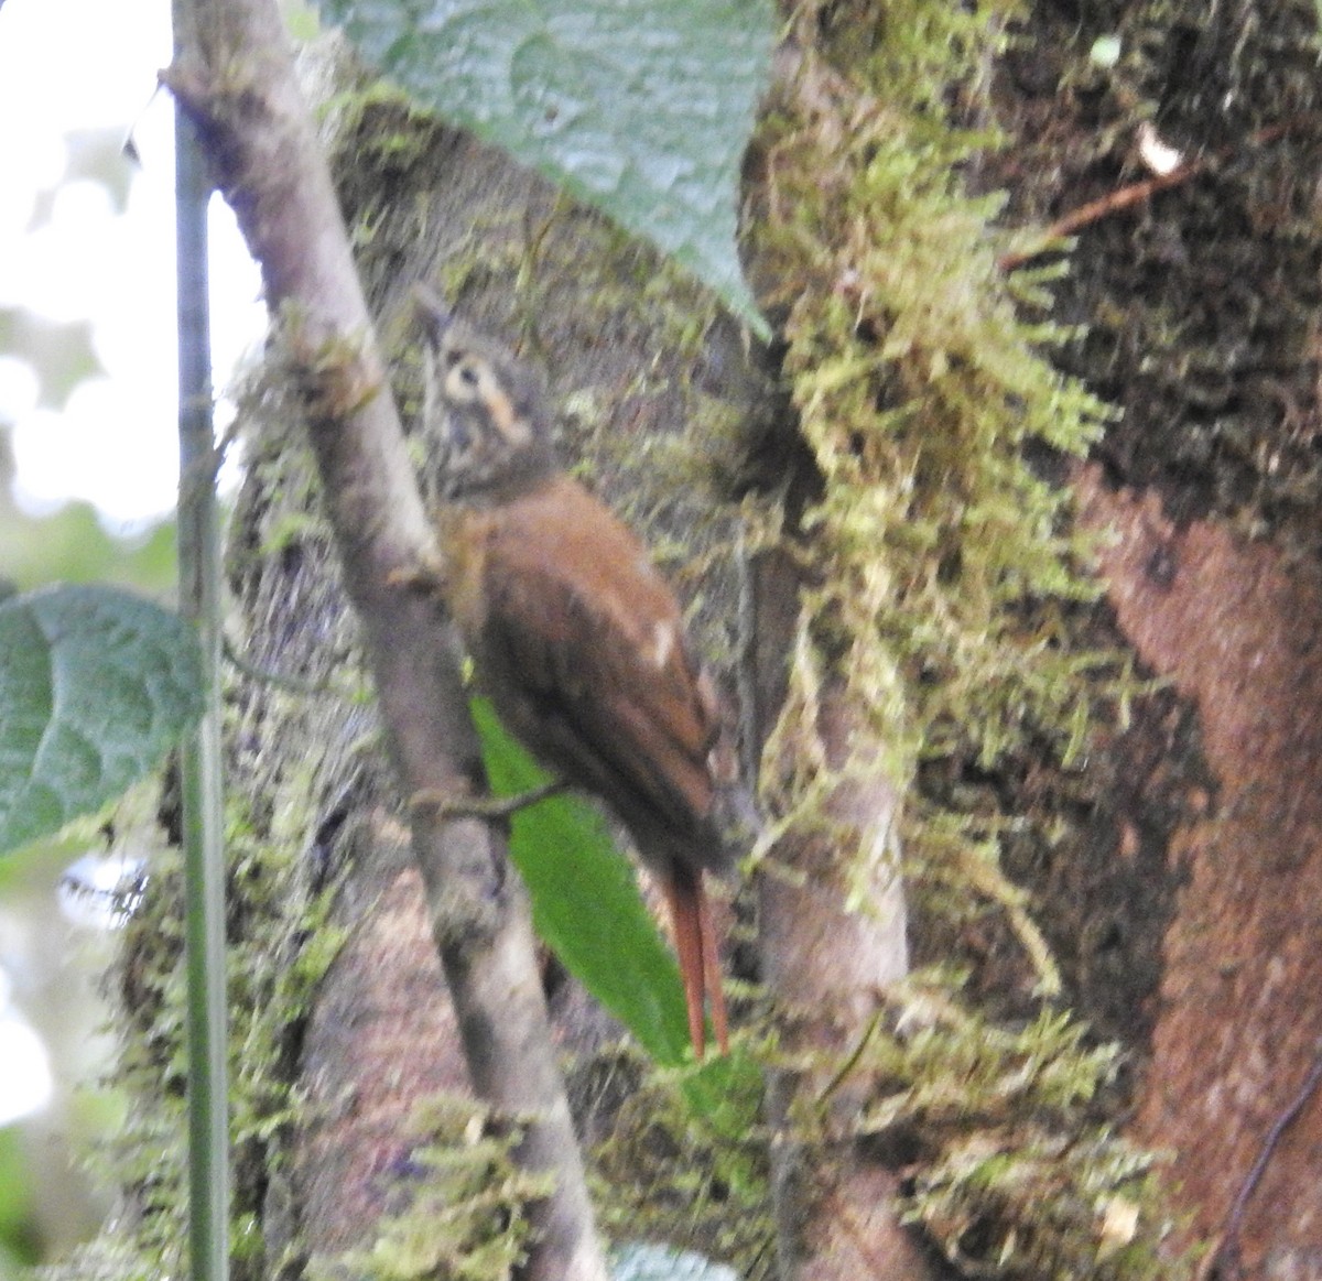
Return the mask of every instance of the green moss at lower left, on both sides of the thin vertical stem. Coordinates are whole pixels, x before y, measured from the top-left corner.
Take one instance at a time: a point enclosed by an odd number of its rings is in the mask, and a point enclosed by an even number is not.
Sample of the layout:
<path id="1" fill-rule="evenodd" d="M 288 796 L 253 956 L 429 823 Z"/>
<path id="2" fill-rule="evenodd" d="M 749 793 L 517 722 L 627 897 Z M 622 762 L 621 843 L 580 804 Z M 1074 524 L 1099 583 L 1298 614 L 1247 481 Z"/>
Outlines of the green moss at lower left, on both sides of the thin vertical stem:
<path id="1" fill-rule="evenodd" d="M 332 891 L 303 912 L 297 846 L 255 834 L 231 817 L 227 834 L 231 908 L 229 949 L 230 1108 L 234 1165 L 231 1206 L 235 1277 L 263 1274 L 260 1183 L 242 1171 L 279 1167 L 280 1144 L 296 1117 L 290 1055 L 311 994 L 342 936 L 329 921 Z M 184 1077 L 182 869 L 161 849 L 126 924 L 118 995 L 124 1018 L 110 1088 L 127 1101 L 122 1130 L 99 1154 L 124 1190 L 122 1248 L 135 1261 L 120 1276 L 186 1272 L 186 1116 Z M 81 1265 L 79 1265 L 81 1266 Z"/>

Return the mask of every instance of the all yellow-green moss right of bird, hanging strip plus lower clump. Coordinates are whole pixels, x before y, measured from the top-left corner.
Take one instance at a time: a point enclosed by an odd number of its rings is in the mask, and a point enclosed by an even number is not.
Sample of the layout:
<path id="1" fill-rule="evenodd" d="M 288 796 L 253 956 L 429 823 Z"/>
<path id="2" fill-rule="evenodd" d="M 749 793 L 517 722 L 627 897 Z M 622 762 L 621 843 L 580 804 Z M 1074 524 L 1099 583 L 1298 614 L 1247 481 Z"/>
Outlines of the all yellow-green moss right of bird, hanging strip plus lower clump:
<path id="1" fill-rule="evenodd" d="M 927 921 L 940 931 L 944 915 L 953 933 L 981 903 L 1050 993 L 1055 961 L 999 855 L 1009 832 L 1054 830 L 1062 816 L 1017 810 L 1009 787 L 928 785 L 1052 757 L 1068 773 L 1097 715 L 1138 689 L 1122 656 L 1076 639 L 1099 594 L 1093 546 L 1040 467 L 1084 455 L 1114 412 L 1052 361 L 1076 337 L 1042 319 L 1055 268 L 1007 276 L 1003 198 L 965 189 L 962 167 L 995 136 L 952 124 L 985 119 L 984 69 L 1015 13 L 859 0 L 796 15 L 800 85 L 767 124 L 755 237 L 783 282 L 771 305 L 822 481 L 802 521 L 818 586 L 764 788 L 796 826 L 837 842 L 849 894 L 850 834 L 822 805 L 841 777 L 875 772 L 871 743 L 887 744 Z M 869 755 L 837 769 L 812 728 L 828 681 L 873 731 Z M 1089 1048 L 1058 1013 L 1006 1029 L 956 988 L 898 994 L 894 1021 L 839 1068 L 871 1083 L 862 1132 L 912 1149 L 910 1216 L 980 1276 L 1182 1274 L 1158 1265 L 1170 1224 L 1153 1157 L 1096 1109 L 1114 1051 Z M 830 1142 L 812 1101 L 798 1104 L 804 1140 Z"/>

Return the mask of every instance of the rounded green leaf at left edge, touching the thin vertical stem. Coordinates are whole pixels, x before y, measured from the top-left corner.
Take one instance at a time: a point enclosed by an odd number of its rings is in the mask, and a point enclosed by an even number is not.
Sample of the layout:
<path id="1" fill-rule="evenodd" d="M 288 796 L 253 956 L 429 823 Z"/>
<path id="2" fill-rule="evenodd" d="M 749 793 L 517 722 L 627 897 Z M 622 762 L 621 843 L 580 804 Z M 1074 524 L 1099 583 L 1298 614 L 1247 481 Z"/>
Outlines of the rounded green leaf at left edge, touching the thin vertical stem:
<path id="1" fill-rule="evenodd" d="M 108 587 L 0 605 L 0 850 L 95 813 L 202 709 L 193 631 Z"/>

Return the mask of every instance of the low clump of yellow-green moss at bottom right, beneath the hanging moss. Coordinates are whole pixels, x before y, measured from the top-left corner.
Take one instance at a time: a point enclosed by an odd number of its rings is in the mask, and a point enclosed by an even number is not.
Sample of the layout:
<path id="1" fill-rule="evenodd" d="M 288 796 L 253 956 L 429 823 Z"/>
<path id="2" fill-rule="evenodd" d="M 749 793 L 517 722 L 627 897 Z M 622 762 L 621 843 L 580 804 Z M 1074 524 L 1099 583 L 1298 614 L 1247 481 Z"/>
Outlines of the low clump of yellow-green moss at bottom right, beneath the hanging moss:
<path id="1" fill-rule="evenodd" d="M 957 980 L 956 980 L 957 981 Z M 871 1083 L 862 1130 L 900 1145 L 915 1173 L 906 1215 L 973 1276 L 1179 1278 L 1166 1257 L 1155 1157 L 1120 1138 L 1089 1104 L 1113 1079 L 1113 1047 L 1043 1010 L 989 1027 L 951 995 L 952 976 L 891 994 L 886 1030 L 854 1069 Z"/>

